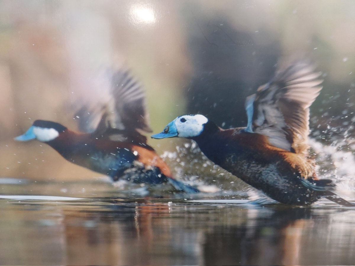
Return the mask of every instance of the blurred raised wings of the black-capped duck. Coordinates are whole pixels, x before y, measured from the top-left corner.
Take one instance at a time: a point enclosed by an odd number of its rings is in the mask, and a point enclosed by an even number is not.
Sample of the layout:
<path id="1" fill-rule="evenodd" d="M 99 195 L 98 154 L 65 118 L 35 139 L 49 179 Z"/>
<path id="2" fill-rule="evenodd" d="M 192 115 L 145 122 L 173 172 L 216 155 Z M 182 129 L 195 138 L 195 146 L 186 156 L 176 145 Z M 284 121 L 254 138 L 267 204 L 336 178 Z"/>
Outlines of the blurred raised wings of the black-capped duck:
<path id="1" fill-rule="evenodd" d="M 117 141 L 146 143 L 140 132 L 152 132 L 148 125 L 145 93 L 129 71 L 110 73 L 109 97 L 104 102 L 83 105 L 76 113 L 80 131 Z"/>

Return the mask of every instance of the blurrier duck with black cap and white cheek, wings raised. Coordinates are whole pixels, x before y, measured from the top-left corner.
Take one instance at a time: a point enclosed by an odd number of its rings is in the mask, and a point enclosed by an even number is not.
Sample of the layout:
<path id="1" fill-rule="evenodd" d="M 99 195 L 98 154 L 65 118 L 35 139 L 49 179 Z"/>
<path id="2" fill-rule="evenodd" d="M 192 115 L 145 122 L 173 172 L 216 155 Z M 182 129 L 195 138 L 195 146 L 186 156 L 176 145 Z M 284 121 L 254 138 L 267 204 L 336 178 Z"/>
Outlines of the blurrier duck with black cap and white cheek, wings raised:
<path id="1" fill-rule="evenodd" d="M 152 130 L 141 86 L 129 72 L 118 71 L 111 76 L 110 99 L 102 105 L 84 105 L 77 113 L 78 127 L 86 133 L 73 132 L 56 122 L 36 120 L 15 140 L 37 139 L 66 160 L 108 175 L 113 181 L 169 182 L 181 192 L 198 192 L 171 176 L 169 167 L 142 135 L 141 132 Z"/>

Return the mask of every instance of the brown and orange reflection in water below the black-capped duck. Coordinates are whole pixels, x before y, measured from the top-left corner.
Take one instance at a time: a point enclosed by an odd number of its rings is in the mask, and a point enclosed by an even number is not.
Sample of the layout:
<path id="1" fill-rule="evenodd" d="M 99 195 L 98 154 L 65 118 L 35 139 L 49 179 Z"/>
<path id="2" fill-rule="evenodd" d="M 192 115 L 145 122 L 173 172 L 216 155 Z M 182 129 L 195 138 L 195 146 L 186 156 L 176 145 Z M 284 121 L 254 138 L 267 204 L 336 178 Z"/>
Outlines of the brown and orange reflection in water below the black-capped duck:
<path id="1" fill-rule="evenodd" d="M 199 264 L 200 232 L 174 226 L 169 204 L 107 205 L 65 214 L 69 264 Z M 180 219 L 179 219 L 180 220 Z M 191 249 L 192 247 L 192 249 Z"/>

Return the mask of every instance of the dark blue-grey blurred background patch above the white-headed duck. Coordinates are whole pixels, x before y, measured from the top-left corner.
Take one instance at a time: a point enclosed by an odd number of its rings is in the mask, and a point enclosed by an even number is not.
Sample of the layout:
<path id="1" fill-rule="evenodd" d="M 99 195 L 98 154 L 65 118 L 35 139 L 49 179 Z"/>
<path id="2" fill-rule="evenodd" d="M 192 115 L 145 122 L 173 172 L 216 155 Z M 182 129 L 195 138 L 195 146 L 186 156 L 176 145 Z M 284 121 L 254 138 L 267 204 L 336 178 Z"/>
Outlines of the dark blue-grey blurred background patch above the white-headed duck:
<path id="1" fill-rule="evenodd" d="M 187 46 L 195 73 L 186 87 L 187 110 L 225 128 L 244 126 L 245 98 L 274 73 L 280 56 L 277 38 L 267 30 L 238 31 L 222 16 L 193 16 Z"/>

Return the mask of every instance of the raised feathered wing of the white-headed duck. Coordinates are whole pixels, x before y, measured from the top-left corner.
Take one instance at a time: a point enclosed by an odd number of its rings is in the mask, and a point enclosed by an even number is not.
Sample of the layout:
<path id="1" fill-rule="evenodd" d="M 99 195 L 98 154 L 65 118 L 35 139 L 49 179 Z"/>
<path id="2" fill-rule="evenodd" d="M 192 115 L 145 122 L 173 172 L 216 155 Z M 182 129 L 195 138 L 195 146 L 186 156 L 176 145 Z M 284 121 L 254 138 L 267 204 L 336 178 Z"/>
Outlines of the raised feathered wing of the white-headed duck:
<path id="1" fill-rule="evenodd" d="M 322 89 L 320 75 L 307 62 L 297 62 L 278 71 L 270 82 L 247 98 L 245 130 L 267 136 L 275 147 L 305 152 L 309 107 Z"/>

